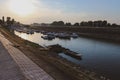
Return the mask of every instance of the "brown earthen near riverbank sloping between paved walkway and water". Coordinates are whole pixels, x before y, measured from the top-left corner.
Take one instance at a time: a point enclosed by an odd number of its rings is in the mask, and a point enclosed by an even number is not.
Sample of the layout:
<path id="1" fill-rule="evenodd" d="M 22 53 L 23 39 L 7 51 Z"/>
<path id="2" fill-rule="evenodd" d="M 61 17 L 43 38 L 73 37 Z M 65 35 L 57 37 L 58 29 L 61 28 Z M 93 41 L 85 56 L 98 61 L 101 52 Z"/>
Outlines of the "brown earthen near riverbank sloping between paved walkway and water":
<path id="1" fill-rule="evenodd" d="M 56 80 L 103 80 L 103 77 L 100 79 L 99 76 L 96 76 L 96 73 L 84 70 L 80 66 L 68 62 L 66 59 L 56 55 L 55 52 L 45 50 L 37 44 L 23 40 L 5 29 L 1 29 L 1 32 L 14 43 L 15 47 L 23 51 L 25 55 Z"/>

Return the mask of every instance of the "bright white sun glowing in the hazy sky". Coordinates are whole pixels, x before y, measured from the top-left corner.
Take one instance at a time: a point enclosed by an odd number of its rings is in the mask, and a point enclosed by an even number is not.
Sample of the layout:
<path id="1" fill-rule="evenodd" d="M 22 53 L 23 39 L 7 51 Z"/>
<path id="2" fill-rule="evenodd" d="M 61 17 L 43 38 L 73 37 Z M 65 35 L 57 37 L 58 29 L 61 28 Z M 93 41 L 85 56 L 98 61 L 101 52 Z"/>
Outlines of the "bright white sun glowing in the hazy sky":
<path id="1" fill-rule="evenodd" d="M 32 0 L 10 0 L 9 4 L 11 12 L 20 16 L 30 15 L 35 9 Z"/>

